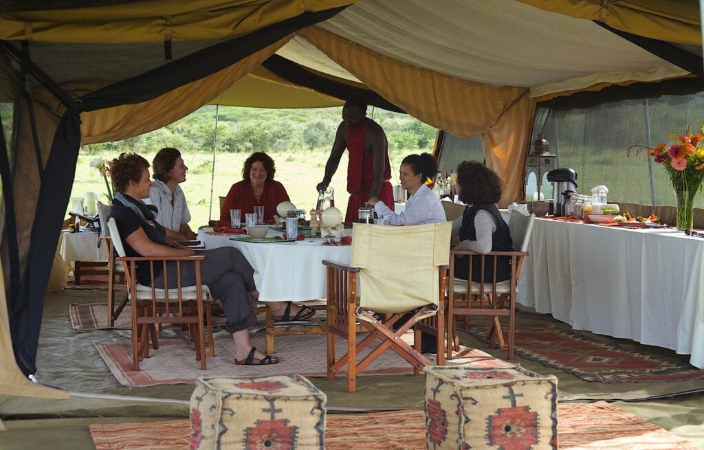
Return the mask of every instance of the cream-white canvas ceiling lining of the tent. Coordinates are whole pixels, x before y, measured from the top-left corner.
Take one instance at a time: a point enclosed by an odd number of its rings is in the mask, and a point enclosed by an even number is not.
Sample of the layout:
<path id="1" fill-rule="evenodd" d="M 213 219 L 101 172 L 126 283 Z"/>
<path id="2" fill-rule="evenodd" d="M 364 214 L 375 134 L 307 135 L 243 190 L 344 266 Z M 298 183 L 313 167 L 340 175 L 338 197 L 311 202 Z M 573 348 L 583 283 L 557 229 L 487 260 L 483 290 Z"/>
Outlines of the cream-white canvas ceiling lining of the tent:
<path id="1" fill-rule="evenodd" d="M 532 96 L 688 73 L 589 20 L 514 0 L 363 0 L 317 26 L 421 68 L 497 86 L 527 86 Z M 302 39 L 277 53 L 356 80 Z"/>

